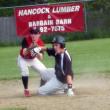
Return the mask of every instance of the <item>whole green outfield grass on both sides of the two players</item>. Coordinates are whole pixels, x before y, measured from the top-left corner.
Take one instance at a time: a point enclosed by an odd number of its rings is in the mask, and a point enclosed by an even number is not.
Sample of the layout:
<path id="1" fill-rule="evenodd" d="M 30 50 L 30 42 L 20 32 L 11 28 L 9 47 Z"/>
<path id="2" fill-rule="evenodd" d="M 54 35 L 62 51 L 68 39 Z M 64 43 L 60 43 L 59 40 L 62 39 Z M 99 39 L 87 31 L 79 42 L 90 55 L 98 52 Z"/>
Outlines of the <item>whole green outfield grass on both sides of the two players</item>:
<path id="1" fill-rule="evenodd" d="M 68 42 L 67 49 L 73 59 L 75 74 L 110 73 L 110 39 Z M 18 53 L 19 47 L 0 47 L 0 79 L 20 77 L 16 63 Z M 54 59 L 47 54 L 43 62 L 47 67 L 54 66 Z M 35 76 L 32 70 L 31 73 Z"/>

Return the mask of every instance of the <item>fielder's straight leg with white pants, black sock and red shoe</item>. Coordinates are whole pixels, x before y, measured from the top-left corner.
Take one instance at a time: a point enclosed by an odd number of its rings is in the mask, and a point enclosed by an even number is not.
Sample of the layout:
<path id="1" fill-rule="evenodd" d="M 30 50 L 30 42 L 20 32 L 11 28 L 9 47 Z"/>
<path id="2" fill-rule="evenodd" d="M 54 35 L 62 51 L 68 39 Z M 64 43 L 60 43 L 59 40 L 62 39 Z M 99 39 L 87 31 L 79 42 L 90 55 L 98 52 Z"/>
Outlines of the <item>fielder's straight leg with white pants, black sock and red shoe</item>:
<path id="1" fill-rule="evenodd" d="M 18 66 L 21 70 L 22 83 L 24 86 L 24 95 L 30 96 L 30 93 L 28 90 L 28 80 L 29 80 L 28 64 L 27 64 L 26 60 L 24 60 L 21 56 L 18 56 Z"/>

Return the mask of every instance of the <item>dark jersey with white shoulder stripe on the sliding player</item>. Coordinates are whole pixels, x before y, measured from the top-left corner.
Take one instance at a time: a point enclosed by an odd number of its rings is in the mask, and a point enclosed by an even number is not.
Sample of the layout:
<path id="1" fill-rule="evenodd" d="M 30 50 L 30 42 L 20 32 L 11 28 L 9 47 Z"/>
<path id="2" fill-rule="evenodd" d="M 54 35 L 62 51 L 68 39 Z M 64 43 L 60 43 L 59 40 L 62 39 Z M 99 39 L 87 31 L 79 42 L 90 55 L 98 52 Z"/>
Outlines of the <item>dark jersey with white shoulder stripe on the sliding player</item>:
<path id="1" fill-rule="evenodd" d="M 62 54 L 56 54 L 53 48 L 48 48 L 47 53 L 49 56 L 55 57 L 55 74 L 59 81 L 66 83 L 67 75 L 73 77 L 72 71 L 72 60 L 65 49 L 65 52 Z"/>

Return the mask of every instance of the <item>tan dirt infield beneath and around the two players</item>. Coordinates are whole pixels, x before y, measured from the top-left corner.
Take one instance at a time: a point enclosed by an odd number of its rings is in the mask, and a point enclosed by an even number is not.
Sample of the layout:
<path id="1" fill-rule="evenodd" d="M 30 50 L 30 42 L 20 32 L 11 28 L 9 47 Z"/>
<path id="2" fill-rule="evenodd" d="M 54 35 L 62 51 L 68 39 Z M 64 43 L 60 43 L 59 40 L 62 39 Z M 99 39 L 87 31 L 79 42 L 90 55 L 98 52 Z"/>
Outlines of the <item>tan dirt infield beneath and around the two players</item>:
<path id="1" fill-rule="evenodd" d="M 26 98 L 22 94 L 20 80 L 0 81 L 0 110 L 110 110 L 110 78 L 76 77 L 74 97 L 37 96 L 38 85 L 39 79 L 31 78 L 29 87 L 32 97 Z"/>

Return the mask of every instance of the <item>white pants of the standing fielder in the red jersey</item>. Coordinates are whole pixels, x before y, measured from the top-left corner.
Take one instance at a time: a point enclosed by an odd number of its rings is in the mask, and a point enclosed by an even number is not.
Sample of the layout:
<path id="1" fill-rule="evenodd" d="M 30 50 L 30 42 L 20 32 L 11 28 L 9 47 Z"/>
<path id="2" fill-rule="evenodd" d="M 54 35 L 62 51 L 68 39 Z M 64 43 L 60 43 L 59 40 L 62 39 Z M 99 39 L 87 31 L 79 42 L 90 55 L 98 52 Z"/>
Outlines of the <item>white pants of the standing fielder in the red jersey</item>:
<path id="1" fill-rule="evenodd" d="M 37 58 L 24 59 L 19 55 L 18 66 L 20 67 L 22 76 L 29 76 L 28 67 L 32 67 L 35 71 L 37 71 L 44 81 L 48 81 L 55 76 L 54 68 L 46 68 L 46 66 Z"/>

